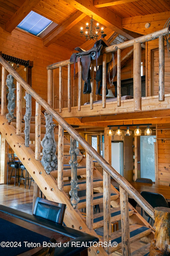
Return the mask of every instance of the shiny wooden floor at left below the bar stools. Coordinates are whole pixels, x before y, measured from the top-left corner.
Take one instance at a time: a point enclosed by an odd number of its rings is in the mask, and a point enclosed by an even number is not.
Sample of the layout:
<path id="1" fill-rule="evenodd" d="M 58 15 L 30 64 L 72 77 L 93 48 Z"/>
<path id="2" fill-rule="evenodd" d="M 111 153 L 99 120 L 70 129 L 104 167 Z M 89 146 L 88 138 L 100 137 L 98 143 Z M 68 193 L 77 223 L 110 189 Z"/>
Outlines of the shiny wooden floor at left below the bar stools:
<path id="1" fill-rule="evenodd" d="M 0 185 L 0 204 L 32 214 L 33 186 Z"/>

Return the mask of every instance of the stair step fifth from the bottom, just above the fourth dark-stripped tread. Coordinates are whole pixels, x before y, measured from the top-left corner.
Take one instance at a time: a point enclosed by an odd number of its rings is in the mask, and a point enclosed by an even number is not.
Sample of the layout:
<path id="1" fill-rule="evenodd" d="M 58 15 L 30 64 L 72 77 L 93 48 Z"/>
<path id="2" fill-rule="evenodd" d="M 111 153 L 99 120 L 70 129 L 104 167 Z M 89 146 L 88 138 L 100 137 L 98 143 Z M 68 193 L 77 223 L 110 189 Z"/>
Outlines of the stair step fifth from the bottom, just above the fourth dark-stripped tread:
<path id="1" fill-rule="evenodd" d="M 78 180 L 78 185 L 80 190 L 86 189 L 86 179 Z M 102 187 L 102 186 L 103 186 L 103 179 L 93 179 L 93 187 Z M 71 187 L 70 181 L 64 182 L 64 191 L 66 193 L 69 193 L 70 187 Z M 80 207 L 80 208 L 83 208 L 83 207 Z"/>

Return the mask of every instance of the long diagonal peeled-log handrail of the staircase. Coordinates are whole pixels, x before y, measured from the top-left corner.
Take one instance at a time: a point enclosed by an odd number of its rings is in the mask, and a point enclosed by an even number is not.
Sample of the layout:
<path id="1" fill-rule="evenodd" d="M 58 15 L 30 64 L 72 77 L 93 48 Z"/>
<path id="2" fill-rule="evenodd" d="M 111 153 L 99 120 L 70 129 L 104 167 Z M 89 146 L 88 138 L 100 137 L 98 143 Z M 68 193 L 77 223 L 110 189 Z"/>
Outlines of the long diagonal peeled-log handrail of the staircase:
<path id="1" fill-rule="evenodd" d="M 153 207 L 151 207 L 148 202 L 138 193 L 137 190 L 134 189 L 130 183 L 122 177 L 117 171 L 109 165 L 107 161 L 96 151 L 94 148 L 88 144 L 88 142 L 80 136 L 80 134 L 74 130 L 71 125 L 69 125 L 64 118 L 62 118 L 39 94 L 37 94 L 32 87 L 28 85 L 27 82 L 24 81 L 22 77 L 14 70 L 12 67 L 0 56 L 0 63 L 3 67 L 23 86 L 23 88 L 31 94 L 31 96 L 41 104 L 44 109 L 48 111 L 50 115 L 53 116 L 54 119 L 76 140 L 80 143 L 80 145 L 86 149 L 87 153 L 90 154 L 102 167 L 107 171 L 108 174 L 111 175 L 127 192 L 131 195 L 132 198 L 146 211 L 152 219 L 154 219 Z"/>

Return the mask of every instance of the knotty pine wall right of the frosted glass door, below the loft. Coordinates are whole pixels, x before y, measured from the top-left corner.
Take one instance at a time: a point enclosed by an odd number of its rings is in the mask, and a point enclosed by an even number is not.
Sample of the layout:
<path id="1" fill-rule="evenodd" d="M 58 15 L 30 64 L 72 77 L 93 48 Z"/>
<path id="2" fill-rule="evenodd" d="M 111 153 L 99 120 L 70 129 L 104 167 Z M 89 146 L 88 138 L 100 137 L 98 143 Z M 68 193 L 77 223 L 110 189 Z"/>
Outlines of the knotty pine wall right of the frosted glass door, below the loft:
<path id="1" fill-rule="evenodd" d="M 158 138 L 158 183 L 170 184 L 170 124 L 159 124 Z M 162 129 L 162 130 L 159 130 Z M 163 139 L 163 141 L 162 141 Z"/>

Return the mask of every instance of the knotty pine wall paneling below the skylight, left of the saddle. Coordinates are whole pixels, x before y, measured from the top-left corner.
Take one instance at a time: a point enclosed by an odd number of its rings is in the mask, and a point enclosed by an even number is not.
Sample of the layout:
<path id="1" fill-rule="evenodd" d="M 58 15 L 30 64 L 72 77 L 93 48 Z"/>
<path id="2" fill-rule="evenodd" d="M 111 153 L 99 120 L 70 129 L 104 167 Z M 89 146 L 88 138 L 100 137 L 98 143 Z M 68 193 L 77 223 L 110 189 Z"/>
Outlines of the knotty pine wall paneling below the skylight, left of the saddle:
<path id="1" fill-rule="evenodd" d="M 41 38 L 14 29 L 12 33 L 4 32 L 0 27 L 0 51 L 7 55 L 33 61 L 32 88 L 47 101 L 47 69 L 50 64 L 69 59 L 71 51 L 57 45 L 44 47 Z M 35 100 L 32 99 L 35 110 Z"/>

